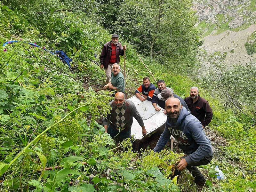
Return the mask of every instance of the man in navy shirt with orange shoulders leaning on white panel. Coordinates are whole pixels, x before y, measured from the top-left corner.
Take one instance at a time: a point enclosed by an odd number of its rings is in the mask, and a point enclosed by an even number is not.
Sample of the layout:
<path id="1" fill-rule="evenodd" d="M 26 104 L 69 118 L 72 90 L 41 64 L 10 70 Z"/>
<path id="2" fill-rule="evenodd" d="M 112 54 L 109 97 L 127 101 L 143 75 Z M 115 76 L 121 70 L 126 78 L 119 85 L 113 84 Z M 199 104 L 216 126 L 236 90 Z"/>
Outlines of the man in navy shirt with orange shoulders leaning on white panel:
<path id="1" fill-rule="evenodd" d="M 135 91 L 136 97 L 138 97 L 141 101 L 151 101 L 156 86 L 150 83 L 149 77 L 143 78 L 143 84 Z"/>

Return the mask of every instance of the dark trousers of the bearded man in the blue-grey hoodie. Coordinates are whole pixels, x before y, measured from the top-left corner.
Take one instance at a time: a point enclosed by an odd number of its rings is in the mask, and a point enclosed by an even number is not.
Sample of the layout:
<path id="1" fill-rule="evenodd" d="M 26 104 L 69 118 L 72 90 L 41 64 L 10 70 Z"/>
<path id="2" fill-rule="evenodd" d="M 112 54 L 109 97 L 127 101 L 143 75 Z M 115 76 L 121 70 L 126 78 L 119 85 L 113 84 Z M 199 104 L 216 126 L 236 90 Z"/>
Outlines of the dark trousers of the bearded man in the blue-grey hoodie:
<path id="1" fill-rule="evenodd" d="M 186 156 L 189 156 L 189 155 L 186 155 Z M 186 156 L 183 156 L 181 158 L 185 158 Z M 186 169 L 193 175 L 193 177 L 195 178 L 195 182 L 205 182 L 205 178 L 204 178 L 204 175 L 198 170 L 198 168 L 196 166 L 199 166 L 199 165 L 206 165 L 206 164 L 209 164 L 212 160 L 212 156 L 209 156 L 209 157 L 204 157 L 203 159 L 201 159 L 200 161 L 198 161 L 197 163 L 192 163 L 192 164 L 188 164 L 186 166 Z M 174 175 L 173 177 L 175 177 L 176 175 L 178 175 L 178 180 L 179 180 L 179 177 L 180 177 L 180 173 L 181 171 L 178 171 L 177 169 L 175 169 L 174 171 Z M 177 180 L 177 181 L 178 181 Z"/>

